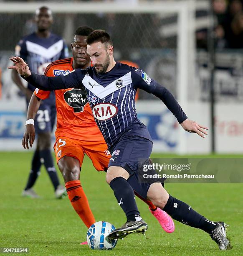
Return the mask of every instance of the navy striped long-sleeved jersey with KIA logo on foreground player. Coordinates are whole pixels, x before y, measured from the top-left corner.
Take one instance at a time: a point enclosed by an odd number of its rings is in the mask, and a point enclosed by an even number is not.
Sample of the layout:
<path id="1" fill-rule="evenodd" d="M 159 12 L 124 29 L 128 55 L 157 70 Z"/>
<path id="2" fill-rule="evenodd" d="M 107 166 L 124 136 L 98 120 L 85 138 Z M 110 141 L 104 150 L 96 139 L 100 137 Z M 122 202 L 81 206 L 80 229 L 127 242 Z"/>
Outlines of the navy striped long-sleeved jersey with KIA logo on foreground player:
<path id="1" fill-rule="evenodd" d="M 31 73 L 26 80 L 33 82 L 41 90 L 73 87 L 83 90 L 108 148 L 112 148 L 125 131 L 152 141 L 146 126 L 137 117 L 134 98 L 138 88 L 163 100 L 179 123 L 187 118 L 165 87 L 151 79 L 141 69 L 119 62 L 104 74 L 97 74 L 94 67 L 88 67 L 75 69 L 67 75 L 54 78 Z"/>

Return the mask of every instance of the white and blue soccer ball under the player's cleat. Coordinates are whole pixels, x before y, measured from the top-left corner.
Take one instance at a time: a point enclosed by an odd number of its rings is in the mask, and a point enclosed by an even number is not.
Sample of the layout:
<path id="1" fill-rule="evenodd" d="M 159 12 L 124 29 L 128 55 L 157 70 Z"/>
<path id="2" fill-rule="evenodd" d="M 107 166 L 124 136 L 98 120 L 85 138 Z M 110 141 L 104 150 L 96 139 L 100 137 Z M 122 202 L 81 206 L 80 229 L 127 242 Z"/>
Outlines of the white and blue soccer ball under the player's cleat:
<path id="1" fill-rule="evenodd" d="M 89 227 L 87 232 L 87 243 L 93 250 L 112 250 L 117 240 L 108 238 L 111 231 L 116 228 L 109 222 L 98 221 Z"/>

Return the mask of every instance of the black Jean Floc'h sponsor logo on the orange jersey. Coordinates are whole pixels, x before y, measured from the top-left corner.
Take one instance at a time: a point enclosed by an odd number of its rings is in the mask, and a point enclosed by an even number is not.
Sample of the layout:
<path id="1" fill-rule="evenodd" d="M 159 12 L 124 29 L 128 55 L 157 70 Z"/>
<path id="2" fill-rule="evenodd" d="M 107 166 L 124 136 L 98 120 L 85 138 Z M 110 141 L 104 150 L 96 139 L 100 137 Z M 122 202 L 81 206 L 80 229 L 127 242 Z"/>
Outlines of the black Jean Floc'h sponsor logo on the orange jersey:
<path id="1" fill-rule="evenodd" d="M 75 113 L 83 112 L 84 106 L 87 104 L 87 98 L 83 90 L 69 90 L 64 93 L 64 100 L 73 108 Z"/>

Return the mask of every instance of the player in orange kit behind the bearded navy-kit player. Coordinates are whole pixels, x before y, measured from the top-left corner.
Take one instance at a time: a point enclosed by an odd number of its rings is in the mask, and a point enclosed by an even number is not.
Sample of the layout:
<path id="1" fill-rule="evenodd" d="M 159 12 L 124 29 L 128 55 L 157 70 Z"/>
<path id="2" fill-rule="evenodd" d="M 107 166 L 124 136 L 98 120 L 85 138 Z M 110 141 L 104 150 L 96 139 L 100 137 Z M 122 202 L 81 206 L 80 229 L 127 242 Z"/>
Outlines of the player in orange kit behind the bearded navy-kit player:
<path id="1" fill-rule="evenodd" d="M 91 60 L 86 53 L 86 38 L 92 31 L 93 29 L 87 26 L 79 27 L 71 44 L 73 58 L 52 62 L 46 68 L 45 75 L 49 77 L 66 75 L 73 72 L 74 69 L 84 69 L 91 66 Z M 35 118 L 41 100 L 46 99 L 49 93 L 50 91 L 35 90 L 28 107 L 28 120 Z M 89 156 L 97 171 L 107 170 L 111 155 L 96 125 L 84 92 L 80 89 L 70 88 L 56 90 L 55 95 L 57 128 L 54 150 L 56 161 L 63 175 L 68 198 L 74 210 L 89 228 L 90 225 L 95 223 L 95 219 L 80 183 L 80 170 L 84 154 Z M 96 99 L 91 98 L 91 100 L 95 101 Z M 34 138 L 34 126 L 32 124 L 26 125 L 22 141 L 23 147 L 29 148 L 28 143 L 32 147 Z M 167 233 L 172 233 L 175 226 L 170 216 L 154 206 L 151 201 L 142 200 L 149 205 L 150 211 L 157 218 L 162 228 Z"/>

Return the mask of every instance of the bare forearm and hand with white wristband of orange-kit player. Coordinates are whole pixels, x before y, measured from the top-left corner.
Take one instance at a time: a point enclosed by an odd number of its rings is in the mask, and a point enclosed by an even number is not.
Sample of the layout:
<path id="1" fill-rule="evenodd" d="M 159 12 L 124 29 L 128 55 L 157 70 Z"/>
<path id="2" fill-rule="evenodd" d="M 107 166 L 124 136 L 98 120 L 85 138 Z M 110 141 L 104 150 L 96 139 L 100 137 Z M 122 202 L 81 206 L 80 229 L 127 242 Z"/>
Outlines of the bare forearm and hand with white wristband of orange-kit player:
<path id="1" fill-rule="evenodd" d="M 38 109 L 40 108 L 41 99 L 35 96 L 33 93 L 30 103 L 28 106 L 28 112 L 27 112 L 27 121 L 28 120 L 34 120 L 35 116 L 37 114 Z M 29 145 L 32 148 L 33 143 L 35 141 L 35 127 L 33 123 L 29 123 L 25 125 L 25 133 L 22 139 L 22 145 L 24 149 L 29 149 Z"/>

